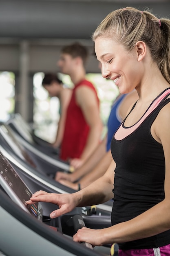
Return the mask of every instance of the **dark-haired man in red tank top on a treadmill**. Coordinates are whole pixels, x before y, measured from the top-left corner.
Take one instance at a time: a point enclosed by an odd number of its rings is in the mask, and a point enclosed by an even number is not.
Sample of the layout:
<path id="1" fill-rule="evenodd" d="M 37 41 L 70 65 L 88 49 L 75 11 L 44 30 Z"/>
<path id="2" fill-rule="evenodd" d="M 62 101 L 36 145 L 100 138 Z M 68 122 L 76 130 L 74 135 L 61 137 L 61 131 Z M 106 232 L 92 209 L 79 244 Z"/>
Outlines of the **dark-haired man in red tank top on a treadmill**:
<path id="1" fill-rule="evenodd" d="M 86 47 L 73 43 L 62 48 L 58 61 L 60 71 L 68 74 L 74 84 L 60 153 L 60 158 L 69 161 L 74 168 L 81 166 L 91 155 L 102 132 L 97 92 L 85 78 L 87 57 Z"/>

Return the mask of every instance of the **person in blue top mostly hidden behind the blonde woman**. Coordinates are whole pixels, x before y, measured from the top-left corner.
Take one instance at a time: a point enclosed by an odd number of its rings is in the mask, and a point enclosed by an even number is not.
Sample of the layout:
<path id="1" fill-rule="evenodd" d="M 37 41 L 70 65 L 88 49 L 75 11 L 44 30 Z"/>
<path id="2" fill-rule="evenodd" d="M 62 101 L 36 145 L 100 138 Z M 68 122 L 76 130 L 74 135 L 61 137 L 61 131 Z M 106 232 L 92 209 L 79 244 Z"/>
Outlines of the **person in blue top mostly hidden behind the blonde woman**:
<path id="1" fill-rule="evenodd" d="M 113 134 L 121 124 L 126 115 L 127 108 L 138 99 L 134 90 L 129 94 L 119 94 L 114 101 L 108 118 L 107 135 L 101 144 L 93 151 L 85 164 L 76 169 L 73 173 L 57 172 L 55 180 L 72 189 L 79 190 L 91 184 L 104 175 L 112 161 L 110 143 Z"/>

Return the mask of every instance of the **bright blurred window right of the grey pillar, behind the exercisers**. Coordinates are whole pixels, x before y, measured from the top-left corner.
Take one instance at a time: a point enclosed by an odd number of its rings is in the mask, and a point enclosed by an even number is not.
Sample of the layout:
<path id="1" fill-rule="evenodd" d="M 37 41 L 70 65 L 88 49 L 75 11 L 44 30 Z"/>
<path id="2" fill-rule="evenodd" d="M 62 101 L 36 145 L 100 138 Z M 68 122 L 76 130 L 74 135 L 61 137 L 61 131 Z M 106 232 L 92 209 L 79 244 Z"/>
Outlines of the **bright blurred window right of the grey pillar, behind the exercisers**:
<path id="1" fill-rule="evenodd" d="M 64 84 L 69 87 L 73 86 L 68 75 L 59 74 L 59 76 Z M 57 131 L 57 122 L 60 118 L 60 103 L 57 97 L 50 98 L 48 96 L 48 92 L 42 86 L 43 77 L 44 73 L 39 72 L 33 78 L 33 122 L 35 134 L 46 141 L 53 142 Z M 104 124 L 102 137 L 104 137 L 107 132 L 110 108 L 119 91 L 113 81 L 104 79 L 101 74 L 87 74 L 86 77 L 95 85 L 100 99 L 100 115 Z"/>

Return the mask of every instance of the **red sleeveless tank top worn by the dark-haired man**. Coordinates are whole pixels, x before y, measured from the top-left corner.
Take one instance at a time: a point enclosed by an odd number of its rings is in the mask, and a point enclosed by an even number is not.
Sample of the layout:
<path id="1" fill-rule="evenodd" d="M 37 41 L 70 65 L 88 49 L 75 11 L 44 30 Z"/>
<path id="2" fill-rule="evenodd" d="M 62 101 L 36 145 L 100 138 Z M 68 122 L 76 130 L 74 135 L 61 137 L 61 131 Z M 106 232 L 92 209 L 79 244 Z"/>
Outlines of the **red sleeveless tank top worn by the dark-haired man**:
<path id="1" fill-rule="evenodd" d="M 81 108 L 77 105 L 75 100 L 75 92 L 80 86 L 87 86 L 91 88 L 96 94 L 97 102 L 99 99 L 94 85 L 83 80 L 75 85 L 71 101 L 68 105 L 66 123 L 64 128 L 64 135 L 61 145 L 60 158 L 68 160 L 69 158 L 79 158 L 84 150 L 89 133 L 89 126 L 86 123 Z"/>

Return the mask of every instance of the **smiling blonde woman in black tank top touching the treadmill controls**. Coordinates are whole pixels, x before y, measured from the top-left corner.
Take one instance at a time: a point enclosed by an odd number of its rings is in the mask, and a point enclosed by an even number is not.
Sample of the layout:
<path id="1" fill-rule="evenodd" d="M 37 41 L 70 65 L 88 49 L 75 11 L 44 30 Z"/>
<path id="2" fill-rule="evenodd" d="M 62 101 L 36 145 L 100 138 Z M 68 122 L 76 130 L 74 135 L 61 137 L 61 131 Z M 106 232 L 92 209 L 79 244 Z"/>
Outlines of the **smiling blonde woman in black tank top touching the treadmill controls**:
<path id="1" fill-rule="evenodd" d="M 170 19 L 127 7 L 111 12 L 93 34 L 102 76 L 121 94 L 137 90 L 111 142 L 106 174 L 73 194 L 36 192 L 28 201 L 59 205 L 55 218 L 76 206 L 114 197 L 112 226 L 82 228 L 73 240 L 119 244 L 119 256 L 170 255 Z"/>

